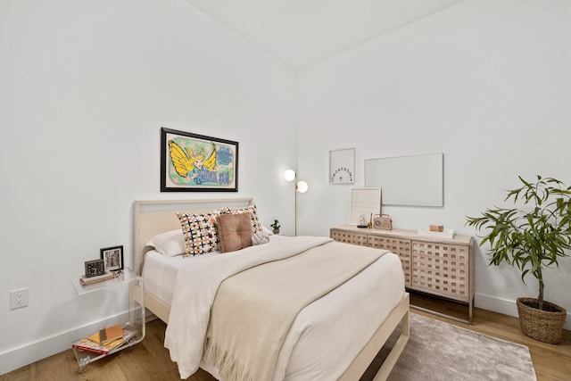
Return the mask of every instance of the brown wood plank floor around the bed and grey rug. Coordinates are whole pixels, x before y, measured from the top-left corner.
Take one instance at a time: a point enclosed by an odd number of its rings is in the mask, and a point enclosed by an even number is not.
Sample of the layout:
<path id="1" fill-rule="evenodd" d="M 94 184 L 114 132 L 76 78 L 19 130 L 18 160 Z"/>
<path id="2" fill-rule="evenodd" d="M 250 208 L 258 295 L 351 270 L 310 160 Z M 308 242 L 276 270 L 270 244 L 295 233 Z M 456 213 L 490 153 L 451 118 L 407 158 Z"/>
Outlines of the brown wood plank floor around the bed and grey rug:
<path id="1" fill-rule="evenodd" d="M 427 303 L 430 302 L 428 301 Z M 442 301 L 434 301 L 432 307 L 440 309 L 442 312 L 453 314 L 459 313 L 463 306 L 455 303 L 450 303 L 449 305 Z M 560 344 L 543 344 L 523 335 L 519 330 L 517 318 L 495 312 L 476 309 L 474 324 L 469 326 L 450 319 L 434 317 L 434 315 L 426 314 L 425 312 L 412 311 L 433 317 L 434 319 L 447 321 L 484 335 L 526 345 L 531 352 L 539 381 L 568 381 L 571 379 L 571 332 L 569 331 L 565 331 Z M 178 380 L 176 364 L 170 361 L 169 352 L 162 345 L 165 327 L 160 320 L 153 320 L 146 325 L 146 336 L 143 342 L 135 345 L 130 351 L 121 351 L 108 358 L 89 364 L 86 371 L 82 374 L 78 373 L 75 356 L 69 350 L 0 376 L 0 381 Z M 188 379 L 191 381 L 214 380 L 202 369 Z"/>

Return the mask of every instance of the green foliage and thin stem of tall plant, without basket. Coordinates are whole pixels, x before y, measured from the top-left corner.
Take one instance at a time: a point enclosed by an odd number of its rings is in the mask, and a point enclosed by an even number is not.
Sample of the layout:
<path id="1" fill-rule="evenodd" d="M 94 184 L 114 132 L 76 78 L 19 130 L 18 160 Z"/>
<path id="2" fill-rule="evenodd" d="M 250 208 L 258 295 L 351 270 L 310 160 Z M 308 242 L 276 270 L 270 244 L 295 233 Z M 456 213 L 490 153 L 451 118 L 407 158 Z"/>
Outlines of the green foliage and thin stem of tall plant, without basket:
<path id="1" fill-rule="evenodd" d="M 467 224 L 486 231 L 481 244 L 490 243 L 490 264 L 517 267 L 524 284 L 529 273 L 538 280 L 538 309 L 543 310 L 543 269 L 559 267 L 559 258 L 571 249 L 571 186 L 556 178 L 519 179 L 523 186 L 509 190 L 505 201 L 519 199 L 521 207 L 493 207 L 481 217 L 467 216 Z"/>

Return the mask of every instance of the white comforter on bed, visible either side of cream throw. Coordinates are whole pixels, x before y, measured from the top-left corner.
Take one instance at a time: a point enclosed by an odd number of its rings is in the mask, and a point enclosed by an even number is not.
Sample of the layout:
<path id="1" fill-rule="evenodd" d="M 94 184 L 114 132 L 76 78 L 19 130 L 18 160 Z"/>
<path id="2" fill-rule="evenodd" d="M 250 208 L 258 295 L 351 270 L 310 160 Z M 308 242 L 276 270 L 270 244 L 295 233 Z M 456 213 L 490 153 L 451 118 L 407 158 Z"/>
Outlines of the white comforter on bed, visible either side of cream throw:
<path id="1" fill-rule="evenodd" d="M 288 241 L 287 244 L 285 244 L 285 240 Z M 269 244 L 252 246 L 239 252 L 224 253 L 204 259 L 194 258 L 193 261 L 189 261 L 181 268 L 178 271 L 176 289 L 171 303 L 169 326 L 165 336 L 165 346 L 170 350 L 171 359 L 178 363 L 180 377 L 191 376 L 200 365 L 203 365 L 216 376 L 216 369 L 208 369 L 208 364 L 201 364 L 201 358 L 211 305 L 218 286 L 224 279 L 243 269 L 266 261 L 287 258 L 315 245 L 330 241 L 331 239 L 326 237 L 280 237 L 280 239 L 272 239 Z M 383 260 L 385 257 L 388 259 Z M 332 338 L 330 332 L 327 331 L 327 324 L 314 325 L 310 323 L 310 319 L 307 320 L 307 324 L 294 324 L 294 327 L 297 328 L 292 329 L 285 339 L 284 347 L 277 361 L 274 379 L 335 379 L 343 373 L 343 370 L 360 351 L 360 348 L 368 342 L 378 324 L 401 300 L 401 295 L 404 292 L 404 279 L 398 257 L 394 254 L 387 254 L 379 261 L 381 260 L 393 262 L 393 275 L 386 277 L 386 279 L 385 277 L 381 278 L 374 285 L 368 281 L 368 288 L 385 287 L 385 293 L 389 294 L 387 298 L 384 297 L 387 305 L 378 306 L 378 308 L 374 305 L 375 302 L 380 302 L 380 299 L 377 299 L 378 289 L 377 294 L 370 291 L 363 291 L 364 294 L 362 295 L 352 294 L 352 297 L 361 298 L 361 302 L 357 304 L 362 310 L 358 312 L 338 311 L 339 313 L 335 313 L 335 309 L 343 310 L 343 305 L 335 305 L 335 302 L 331 301 L 332 298 L 322 298 L 312 303 L 300 313 L 298 319 L 305 319 L 304 317 L 309 316 L 308 314 L 313 315 L 316 311 L 323 310 L 327 311 L 321 315 L 323 315 L 324 322 L 329 325 L 329 328 L 335 325 L 337 327 L 343 325 L 341 327 L 346 327 L 346 329 L 341 332 L 335 331 L 335 337 Z M 358 283 L 359 280 L 354 282 Z M 387 285 L 389 291 L 387 291 Z M 354 293 L 354 290 L 352 292 Z M 331 294 L 334 293 L 343 294 L 343 287 L 339 287 Z M 345 299 L 347 296 L 345 295 Z M 331 321 L 327 321 L 327 319 L 331 319 Z M 334 343 L 332 345 L 320 345 L 325 343 L 326 338 Z M 335 341 L 339 344 L 335 344 Z M 319 348 L 316 348 L 316 345 Z M 294 351 L 296 346 L 305 348 L 303 351 Z M 302 369 L 287 369 L 288 363 L 296 361 L 294 359 L 296 353 L 301 352 L 314 352 L 315 358 L 311 359 L 310 364 L 307 367 L 302 367 Z M 297 360 L 297 363 L 302 362 L 301 359 Z M 313 363 L 316 364 L 317 368 L 313 368 Z M 292 371 L 290 372 L 290 370 Z"/>

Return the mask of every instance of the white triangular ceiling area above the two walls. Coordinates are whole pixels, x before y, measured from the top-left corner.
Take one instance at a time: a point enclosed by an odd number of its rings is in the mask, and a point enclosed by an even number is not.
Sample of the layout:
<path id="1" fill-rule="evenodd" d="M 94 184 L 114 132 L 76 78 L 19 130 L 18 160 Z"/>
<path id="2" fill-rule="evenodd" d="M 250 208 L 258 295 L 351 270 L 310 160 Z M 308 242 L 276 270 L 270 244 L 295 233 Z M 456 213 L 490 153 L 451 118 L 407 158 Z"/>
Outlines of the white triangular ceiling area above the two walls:
<path id="1" fill-rule="evenodd" d="M 186 0 L 295 68 L 465 0 Z"/>

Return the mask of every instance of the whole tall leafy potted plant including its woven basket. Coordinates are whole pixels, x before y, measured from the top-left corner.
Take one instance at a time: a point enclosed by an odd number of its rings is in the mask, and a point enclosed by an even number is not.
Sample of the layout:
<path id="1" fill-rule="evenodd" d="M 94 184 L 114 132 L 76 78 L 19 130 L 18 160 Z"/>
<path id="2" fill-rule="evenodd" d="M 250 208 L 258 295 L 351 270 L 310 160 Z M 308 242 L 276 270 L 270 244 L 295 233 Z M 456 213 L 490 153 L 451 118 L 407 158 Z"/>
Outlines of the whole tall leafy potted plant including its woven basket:
<path id="1" fill-rule="evenodd" d="M 561 340 L 567 311 L 557 304 L 543 300 L 543 270 L 567 257 L 571 248 L 571 186 L 556 178 L 542 178 L 509 190 L 504 201 L 519 199 L 521 206 L 493 207 L 480 217 L 468 217 L 467 224 L 485 230 L 481 236 L 490 244 L 490 264 L 505 261 L 521 271 L 522 281 L 532 274 L 538 281 L 537 298 L 517 298 L 519 324 L 525 335 L 544 343 Z"/>

